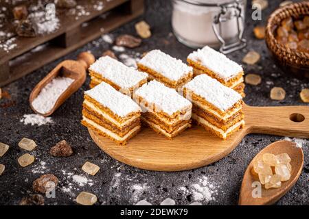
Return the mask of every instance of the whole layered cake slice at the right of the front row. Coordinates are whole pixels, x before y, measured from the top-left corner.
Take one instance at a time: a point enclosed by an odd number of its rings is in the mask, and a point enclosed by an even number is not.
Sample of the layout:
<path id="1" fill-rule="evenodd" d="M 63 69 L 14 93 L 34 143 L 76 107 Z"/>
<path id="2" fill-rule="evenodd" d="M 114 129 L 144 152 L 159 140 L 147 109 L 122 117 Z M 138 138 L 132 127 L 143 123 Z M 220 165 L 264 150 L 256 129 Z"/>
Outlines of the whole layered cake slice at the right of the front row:
<path id="1" fill-rule="evenodd" d="M 193 103 L 192 119 L 216 136 L 227 139 L 244 126 L 242 96 L 208 75 L 198 75 L 183 86 Z"/>

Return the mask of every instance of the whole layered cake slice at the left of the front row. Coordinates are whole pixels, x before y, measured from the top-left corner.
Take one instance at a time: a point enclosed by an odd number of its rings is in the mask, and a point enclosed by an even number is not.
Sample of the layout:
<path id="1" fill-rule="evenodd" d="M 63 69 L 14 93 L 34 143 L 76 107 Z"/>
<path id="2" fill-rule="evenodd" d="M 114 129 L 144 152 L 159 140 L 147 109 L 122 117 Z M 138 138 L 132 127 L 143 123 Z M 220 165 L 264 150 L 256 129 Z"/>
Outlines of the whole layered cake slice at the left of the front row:
<path id="1" fill-rule="evenodd" d="M 102 82 L 84 92 L 82 125 L 117 144 L 126 142 L 141 129 L 141 108 L 129 96 Z"/>

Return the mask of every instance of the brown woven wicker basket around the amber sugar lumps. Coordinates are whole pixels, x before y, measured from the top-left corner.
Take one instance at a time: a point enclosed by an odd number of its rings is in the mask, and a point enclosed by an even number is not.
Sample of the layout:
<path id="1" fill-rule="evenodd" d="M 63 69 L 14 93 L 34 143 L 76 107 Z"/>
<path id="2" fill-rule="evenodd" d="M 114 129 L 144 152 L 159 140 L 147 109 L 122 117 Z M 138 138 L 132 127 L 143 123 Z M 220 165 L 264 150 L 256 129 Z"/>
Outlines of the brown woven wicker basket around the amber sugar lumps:
<path id="1" fill-rule="evenodd" d="M 309 15 L 309 1 L 292 3 L 284 8 L 279 8 L 268 18 L 266 26 L 266 44 L 279 65 L 287 72 L 296 73 L 297 76 L 309 78 L 309 54 L 294 49 L 289 49 L 275 39 L 275 31 L 282 20 L 292 16 L 301 18 Z"/>

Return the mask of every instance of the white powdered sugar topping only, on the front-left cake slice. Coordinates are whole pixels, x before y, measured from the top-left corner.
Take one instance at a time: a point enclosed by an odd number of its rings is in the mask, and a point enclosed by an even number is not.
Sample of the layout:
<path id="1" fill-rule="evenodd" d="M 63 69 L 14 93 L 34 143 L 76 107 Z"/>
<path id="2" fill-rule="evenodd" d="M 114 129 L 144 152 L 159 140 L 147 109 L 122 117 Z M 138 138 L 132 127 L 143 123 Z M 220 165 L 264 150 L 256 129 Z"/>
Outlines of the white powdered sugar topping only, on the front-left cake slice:
<path id="1" fill-rule="evenodd" d="M 102 82 L 85 94 L 110 109 L 117 116 L 125 117 L 133 112 L 141 112 L 141 108 L 129 96 L 115 90 L 108 83 Z"/>

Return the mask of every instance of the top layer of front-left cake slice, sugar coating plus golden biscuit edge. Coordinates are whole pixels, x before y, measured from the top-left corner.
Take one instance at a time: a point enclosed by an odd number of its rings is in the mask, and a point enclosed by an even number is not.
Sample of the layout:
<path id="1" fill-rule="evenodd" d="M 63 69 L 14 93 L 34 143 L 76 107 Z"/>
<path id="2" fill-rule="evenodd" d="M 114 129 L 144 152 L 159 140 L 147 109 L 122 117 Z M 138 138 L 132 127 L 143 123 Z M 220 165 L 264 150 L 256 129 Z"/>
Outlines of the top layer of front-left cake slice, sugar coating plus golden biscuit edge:
<path id="1" fill-rule="evenodd" d="M 141 112 L 139 105 L 129 96 L 118 92 L 105 82 L 84 92 L 84 94 L 85 99 L 96 105 L 100 110 L 112 115 L 119 123 L 124 123 L 124 121 Z"/>

